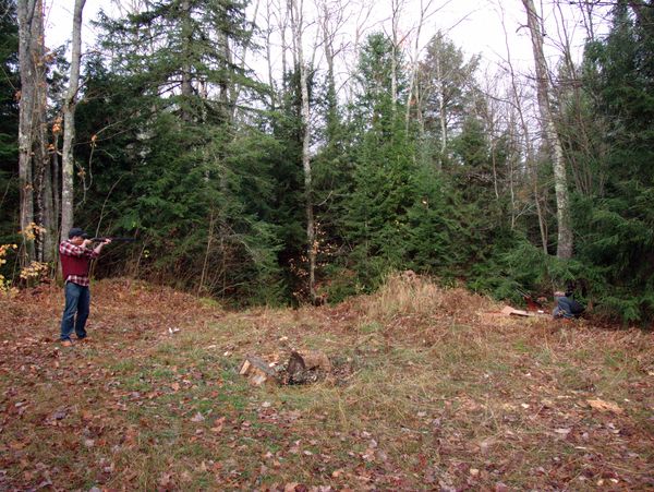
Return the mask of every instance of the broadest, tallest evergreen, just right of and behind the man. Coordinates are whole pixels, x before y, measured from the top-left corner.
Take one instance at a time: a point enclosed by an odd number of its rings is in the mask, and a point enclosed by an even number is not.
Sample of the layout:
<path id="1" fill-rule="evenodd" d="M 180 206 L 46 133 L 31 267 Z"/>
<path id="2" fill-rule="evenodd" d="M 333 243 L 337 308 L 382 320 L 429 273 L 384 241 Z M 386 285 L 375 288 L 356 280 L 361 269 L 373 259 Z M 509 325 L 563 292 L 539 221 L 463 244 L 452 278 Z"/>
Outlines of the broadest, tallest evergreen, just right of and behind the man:
<path id="1" fill-rule="evenodd" d="M 167 1 L 104 19 L 113 58 L 109 71 L 101 60 L 88 65 L 89 103 L 78 117 L 90 133 L 83 152 L 102 170 L 85 213 L 143 239 L 131 262 L 140 274 L 270 301 L 280 292 L 279 240 L 262 201 L 274 194 L 266 152 L 279 152 L 257 122 L 237 118 L 237 94 L 256 85 L 232 62 L 246 43 L 242 9 Z M 96 139 L 100 130 L 114 135 Z"/>

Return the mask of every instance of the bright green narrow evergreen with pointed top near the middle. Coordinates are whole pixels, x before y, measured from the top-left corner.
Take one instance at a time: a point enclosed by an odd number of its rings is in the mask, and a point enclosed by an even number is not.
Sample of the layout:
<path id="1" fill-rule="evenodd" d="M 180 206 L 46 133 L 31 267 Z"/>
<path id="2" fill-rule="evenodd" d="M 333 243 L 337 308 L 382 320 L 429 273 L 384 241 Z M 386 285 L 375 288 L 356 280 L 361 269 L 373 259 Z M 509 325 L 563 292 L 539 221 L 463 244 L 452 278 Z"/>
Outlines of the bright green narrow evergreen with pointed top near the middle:
<path id="1" fill-rule="evenodd" d="M 353 189 L 348 199 L 347 238 L 360 281 L 374 286 L 389 268 L 401 268 L 408 237 L 407 213 L 414 201 L 413 149 L 403 130 L 402 77 L 392 100 L 391 40 L 368 36 L 362 48 L 352 110 Z M 397 67 L 401 64 L 396 60 Z"/>

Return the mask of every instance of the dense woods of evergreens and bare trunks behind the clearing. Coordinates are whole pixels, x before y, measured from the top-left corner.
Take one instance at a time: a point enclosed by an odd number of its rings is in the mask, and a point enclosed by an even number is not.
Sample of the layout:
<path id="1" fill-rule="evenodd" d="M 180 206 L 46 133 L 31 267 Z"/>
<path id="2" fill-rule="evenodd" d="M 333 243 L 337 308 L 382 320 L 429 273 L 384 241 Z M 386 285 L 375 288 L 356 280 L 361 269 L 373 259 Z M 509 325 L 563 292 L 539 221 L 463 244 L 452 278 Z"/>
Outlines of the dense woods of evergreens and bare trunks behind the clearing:
<path id="1" fill-rule="evenodd" d="M 544 56 L 523 0 L 521 73 L 508 43 L 491 71 L 447 31 L 421 39 L 433 3 L 402 29 L 398 0 L 373 28 L 348 24 L 370 5 L 254 1 L 102 13 L 76 68 L 73 24 L 65 61 L 43 0 L 0 0 L 3 289 L 52 277 L 74 224 L 138 240 L 96 276 L 238 305 L 335 302 L 412 269 L 504 299 L 570 285 L 652 321 L 654 2 L 565 2 L 578 62 L 565 29 Z"/>

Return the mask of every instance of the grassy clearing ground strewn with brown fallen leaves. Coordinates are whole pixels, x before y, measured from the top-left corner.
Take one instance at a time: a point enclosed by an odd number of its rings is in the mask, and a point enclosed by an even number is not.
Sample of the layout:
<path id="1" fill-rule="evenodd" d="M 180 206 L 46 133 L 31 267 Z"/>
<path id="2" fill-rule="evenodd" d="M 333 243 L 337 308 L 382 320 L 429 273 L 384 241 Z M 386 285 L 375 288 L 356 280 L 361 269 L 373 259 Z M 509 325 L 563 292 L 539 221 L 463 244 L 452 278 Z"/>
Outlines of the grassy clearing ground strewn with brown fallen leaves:
<path id="1" fill-rule="evenodd" d="M 125 279 L 0 298 L 0 490 L 645 490 L 654 336 L 516 319 L 397 277 L 336 307 L 228 312 Z M 251 386 L 246 355 L 334 374 Z"/>

